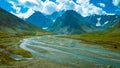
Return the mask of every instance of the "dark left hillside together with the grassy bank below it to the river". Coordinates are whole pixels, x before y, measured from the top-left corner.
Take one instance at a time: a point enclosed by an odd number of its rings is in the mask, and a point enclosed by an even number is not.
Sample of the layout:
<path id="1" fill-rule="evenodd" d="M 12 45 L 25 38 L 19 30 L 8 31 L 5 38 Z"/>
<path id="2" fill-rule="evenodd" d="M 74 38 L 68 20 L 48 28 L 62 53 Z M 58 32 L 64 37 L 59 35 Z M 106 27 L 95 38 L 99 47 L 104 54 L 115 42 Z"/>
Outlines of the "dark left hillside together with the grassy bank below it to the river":
<path id="1" fill-rule="evenodd" d="M 19 45 L 20 40 L 35 35 L 45 35 L 45 31 L 0 8 L 0 66 L 15 64 L 17 61 L 11 57 L 12 54 L 32 57 Z"/>

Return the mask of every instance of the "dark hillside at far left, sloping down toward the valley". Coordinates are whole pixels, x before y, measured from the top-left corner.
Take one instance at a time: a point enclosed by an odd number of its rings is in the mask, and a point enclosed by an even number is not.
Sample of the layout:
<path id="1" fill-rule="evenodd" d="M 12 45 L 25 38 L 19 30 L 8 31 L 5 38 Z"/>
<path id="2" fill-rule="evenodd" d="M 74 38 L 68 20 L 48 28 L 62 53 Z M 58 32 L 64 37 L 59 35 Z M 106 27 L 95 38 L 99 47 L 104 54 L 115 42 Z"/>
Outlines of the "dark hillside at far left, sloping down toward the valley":
<path id="1" fill-rule="evenodd" d="M 26 23 L 24 20 L 0 8 L 0 32 L 36 32 L 38 27 Z"/>

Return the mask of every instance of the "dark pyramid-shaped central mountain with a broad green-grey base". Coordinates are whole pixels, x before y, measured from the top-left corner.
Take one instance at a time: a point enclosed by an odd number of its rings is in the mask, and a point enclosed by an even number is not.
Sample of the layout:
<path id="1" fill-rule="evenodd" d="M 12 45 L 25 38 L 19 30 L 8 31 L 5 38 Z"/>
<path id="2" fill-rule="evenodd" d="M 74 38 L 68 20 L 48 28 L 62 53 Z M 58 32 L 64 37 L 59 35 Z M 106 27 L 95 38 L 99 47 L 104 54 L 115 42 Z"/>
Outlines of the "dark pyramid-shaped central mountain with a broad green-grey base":
<path id="1" fill-rule="evenodd" d="M 56 19 L 51 31 L 57 34 L 80 34 L 96 30 L 77 12 L 68 10 Z"/>

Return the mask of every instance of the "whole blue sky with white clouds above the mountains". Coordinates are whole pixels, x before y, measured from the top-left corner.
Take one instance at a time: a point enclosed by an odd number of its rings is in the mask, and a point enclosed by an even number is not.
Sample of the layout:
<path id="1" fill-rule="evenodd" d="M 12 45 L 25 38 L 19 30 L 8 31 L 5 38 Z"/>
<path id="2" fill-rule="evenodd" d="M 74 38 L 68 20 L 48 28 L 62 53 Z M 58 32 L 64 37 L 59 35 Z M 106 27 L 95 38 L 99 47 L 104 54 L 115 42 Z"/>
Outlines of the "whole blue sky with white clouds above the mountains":
<path id="1" fill-rule="evenodd" d="M 0 7 L 23 19 L 35 11 L 50 15 L 56 11 L 75 10 L 84 17 L 120 15 L 120 0 L 0 0 Z"/>

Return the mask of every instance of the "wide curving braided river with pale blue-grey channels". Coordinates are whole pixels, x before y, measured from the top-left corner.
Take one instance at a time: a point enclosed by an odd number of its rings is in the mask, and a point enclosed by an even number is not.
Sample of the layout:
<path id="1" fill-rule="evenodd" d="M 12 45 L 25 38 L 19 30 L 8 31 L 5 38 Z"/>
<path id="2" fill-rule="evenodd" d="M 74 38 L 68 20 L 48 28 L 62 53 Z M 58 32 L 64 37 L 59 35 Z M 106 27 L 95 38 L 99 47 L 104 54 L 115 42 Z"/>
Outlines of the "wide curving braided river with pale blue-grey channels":
<path id="1" fill-rule="evenodd" d="M 100 68 L 107 65 L 120 68 L 120 52 L 74 39 L 41 36 L 22 40 L 20 47 L 31 52 L 33 59 L 45 59 L 81 68 Z"/>

